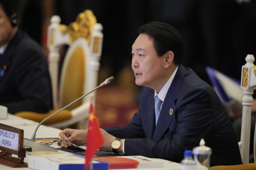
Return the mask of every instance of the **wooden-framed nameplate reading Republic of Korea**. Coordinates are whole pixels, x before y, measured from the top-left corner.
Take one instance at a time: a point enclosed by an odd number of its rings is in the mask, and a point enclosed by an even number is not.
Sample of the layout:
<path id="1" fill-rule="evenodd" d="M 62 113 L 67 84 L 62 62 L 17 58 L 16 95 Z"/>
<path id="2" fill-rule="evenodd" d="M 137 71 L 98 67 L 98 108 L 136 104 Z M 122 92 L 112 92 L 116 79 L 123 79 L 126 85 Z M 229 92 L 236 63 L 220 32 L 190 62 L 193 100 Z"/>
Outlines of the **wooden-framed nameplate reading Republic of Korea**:
<path id="1" fill-rule="evenodd" d="M 24 163 L 26 151 L 23 148 L 24 131 L 0 124 L 0 164 L 9 167 L 27 167 Z M 12 157 L 12 154 L 17 155 Z"/>

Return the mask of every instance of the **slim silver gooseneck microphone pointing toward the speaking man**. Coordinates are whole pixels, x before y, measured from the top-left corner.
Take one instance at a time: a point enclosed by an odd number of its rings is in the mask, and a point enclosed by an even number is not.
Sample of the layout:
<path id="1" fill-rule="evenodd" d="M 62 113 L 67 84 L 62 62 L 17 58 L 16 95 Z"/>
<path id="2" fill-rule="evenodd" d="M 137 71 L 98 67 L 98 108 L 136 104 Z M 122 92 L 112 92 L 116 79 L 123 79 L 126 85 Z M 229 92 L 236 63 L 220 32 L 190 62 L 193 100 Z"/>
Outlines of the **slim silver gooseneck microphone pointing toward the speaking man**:
<path id="1" fill-rule="evenodd" d="M 91 92 L 95 91 L 96 89 L 102 87 L 102 86 L 106 86 L 107 84 L 110 84 L 112 81 L 114 81 L 115 78 L 113 76 L 111 76 L 110 78 L 107 78 L 105 81 L 103 81 L 99 86 L 97 86 L 96 88 L 94 88 L 93 90 L 91 90 L 90 92 L 86 93 L 85 95 L 82 95 L 81 97 L 77 98 L 76 100 L 72 101 L 70 104 L 68 104 L 67 106 L 63 107 L 62 109 L 59 109 L 57 112 L 53 113 L 52 115 L 50 115 L 49 117 L 45 118 L 43 121 L 41 121 L 37 127 L 35 128 L 35 131 L 32 135 L 32 138 L 31 139 L 27 139 L 27 138 L 24 138 L 24 146 L 30 146 L 30 145 L 35 145 L 33 143 L 40 143 L 40 142 L 37 142 L 35 141 L 35 135 L 36 135 L 36 132 L 38 130 L 38 127 L 41 126 L 41 124 L 43 124 L 45 121 L 47 121 L 49 118 L 53 117 L 54 115 L 58 114 L 59 112 L 61 112 L 62 110 L 66 109 L 67 107 L 71 106 L 72 104 L 74 104 L 75 102 L 79 101 L 80 99 L 84 98 L 85 96 L 87 96 L 88 94 L 90 94 Z M 25 144 L 29 144 L 29 145 L 25 145 Z M 42 147 L 42 145 L 46 145 L 46 144 L 42 144 L 40 143 Z M 49 145 L 46 145 L 47 147 L 50 147 Z M 39 147 L 39 146 L 38 146 Z M 53 151 L 52 150 L 53 147 L 51 147 L 50 150 L 47 150 L 47 151 Z M 38 148 L 39 149 L 39 148 Z M 56 148 L 53 148 L 56 150 Z M 40 150 L 33 150 L 34 151 L 40 151 Z"/>

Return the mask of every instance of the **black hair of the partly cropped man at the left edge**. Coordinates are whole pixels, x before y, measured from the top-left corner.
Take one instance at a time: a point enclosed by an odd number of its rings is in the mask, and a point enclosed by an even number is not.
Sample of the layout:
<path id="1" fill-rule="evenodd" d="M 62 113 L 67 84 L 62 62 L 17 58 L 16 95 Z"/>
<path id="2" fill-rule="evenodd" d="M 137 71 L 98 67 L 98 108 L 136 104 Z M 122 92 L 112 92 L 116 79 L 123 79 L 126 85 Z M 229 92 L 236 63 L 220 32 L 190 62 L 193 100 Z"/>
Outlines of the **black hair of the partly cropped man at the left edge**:
<path id="1" fill-rule="evenodd" d="M 21 0 L 0 0 L 0 5 L 2 6 L 7 17 L 11 17 L 13 14 L 18 16 L 18 8 Z"/>

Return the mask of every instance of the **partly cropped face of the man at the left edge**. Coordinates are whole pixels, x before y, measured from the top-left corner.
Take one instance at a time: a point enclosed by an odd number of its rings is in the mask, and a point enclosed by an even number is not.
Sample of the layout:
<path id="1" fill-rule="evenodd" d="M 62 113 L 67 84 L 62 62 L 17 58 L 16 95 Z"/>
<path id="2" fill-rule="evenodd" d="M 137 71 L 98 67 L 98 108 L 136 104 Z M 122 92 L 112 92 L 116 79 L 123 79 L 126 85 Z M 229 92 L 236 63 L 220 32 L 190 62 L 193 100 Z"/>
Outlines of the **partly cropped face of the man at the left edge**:
<path id="1" fill-rule="evenodd" d="M 0 46 L 6 44 L 12 35 L 12 25 L 0 5 Z"/>

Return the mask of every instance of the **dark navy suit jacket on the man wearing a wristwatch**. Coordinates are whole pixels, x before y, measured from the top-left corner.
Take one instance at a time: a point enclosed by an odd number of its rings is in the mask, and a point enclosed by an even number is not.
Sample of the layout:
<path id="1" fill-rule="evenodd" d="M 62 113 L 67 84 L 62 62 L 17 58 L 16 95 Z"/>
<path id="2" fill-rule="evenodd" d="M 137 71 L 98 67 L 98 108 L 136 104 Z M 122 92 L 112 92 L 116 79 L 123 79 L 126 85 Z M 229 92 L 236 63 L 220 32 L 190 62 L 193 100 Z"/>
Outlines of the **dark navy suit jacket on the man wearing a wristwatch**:
<path id="1" fill-rule="evenodd" d="M 173 109 L 173 114 L 170 114 Z M 105 128 L 125 138 L 125 155 L 180 162 L 184 150 L 203 138 L 212 148 L 211 164 L 242 164 L 234 129 L 218 95 L 191 69 L 179 66 L 155 126 L 154 90 L 142 87 L 138 112 L 124 127 Z"/>

